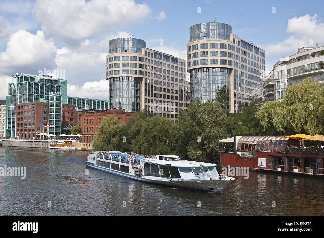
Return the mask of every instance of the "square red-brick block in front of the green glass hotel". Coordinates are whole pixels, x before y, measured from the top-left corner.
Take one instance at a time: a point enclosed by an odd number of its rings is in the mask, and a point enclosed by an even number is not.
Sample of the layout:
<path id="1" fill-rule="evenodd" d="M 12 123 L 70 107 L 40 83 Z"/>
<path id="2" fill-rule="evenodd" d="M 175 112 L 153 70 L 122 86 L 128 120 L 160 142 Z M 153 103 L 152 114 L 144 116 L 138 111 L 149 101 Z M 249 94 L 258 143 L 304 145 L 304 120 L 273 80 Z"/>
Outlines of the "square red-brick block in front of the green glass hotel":
<path id="1" fill-rule="evenodd" d="M 41 124 L 48 123 L 48 102 L 30 102 L 17 104 L 17 137 L 33 139 L 41 132 L 48 133 L 48 128 L 41 130 Z"/>

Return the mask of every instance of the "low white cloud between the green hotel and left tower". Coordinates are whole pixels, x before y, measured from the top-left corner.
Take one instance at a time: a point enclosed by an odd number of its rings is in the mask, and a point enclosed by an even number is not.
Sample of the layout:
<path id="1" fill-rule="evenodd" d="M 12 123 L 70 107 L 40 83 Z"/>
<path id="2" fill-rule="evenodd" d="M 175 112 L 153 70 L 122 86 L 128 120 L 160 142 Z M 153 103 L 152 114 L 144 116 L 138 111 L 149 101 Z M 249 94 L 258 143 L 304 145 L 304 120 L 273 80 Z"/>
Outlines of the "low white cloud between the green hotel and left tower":
<path id="1" fill-rule="evenodd" d="M 93 99 L 109 99 L 109 82 L 106 79 L 100 81 L 90 81 L 79 85 L 67 85 L 67 92 L 69 96 L 86 97 Z"/>

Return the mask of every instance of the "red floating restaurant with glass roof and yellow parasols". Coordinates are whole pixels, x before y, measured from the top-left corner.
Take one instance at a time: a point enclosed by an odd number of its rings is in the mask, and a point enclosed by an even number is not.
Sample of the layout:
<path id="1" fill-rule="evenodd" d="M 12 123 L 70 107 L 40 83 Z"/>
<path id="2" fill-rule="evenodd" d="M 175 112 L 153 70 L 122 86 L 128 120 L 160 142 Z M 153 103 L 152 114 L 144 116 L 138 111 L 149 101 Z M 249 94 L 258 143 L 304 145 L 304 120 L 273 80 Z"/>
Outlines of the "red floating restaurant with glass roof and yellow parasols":
<path id="1" fill-rule="evenodd" d="M 324 136 L 245 135 L 218 141 L 221 166 L 324 177 Z"/>

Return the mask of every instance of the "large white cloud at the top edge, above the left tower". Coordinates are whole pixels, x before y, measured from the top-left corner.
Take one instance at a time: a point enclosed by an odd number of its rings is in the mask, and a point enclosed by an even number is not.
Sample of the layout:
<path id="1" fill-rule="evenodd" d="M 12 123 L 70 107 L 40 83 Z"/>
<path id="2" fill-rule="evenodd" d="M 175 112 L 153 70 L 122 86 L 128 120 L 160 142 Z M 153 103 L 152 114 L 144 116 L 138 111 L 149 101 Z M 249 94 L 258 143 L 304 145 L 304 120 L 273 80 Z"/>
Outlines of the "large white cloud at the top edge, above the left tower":
<path id="1" fill-rule="evenodd" d="M 33 16 L 46 36 L 89 39 L 111 27 L 143 20 L 151 14 L 145 4 L 133 0 L 37 0 Z"/>

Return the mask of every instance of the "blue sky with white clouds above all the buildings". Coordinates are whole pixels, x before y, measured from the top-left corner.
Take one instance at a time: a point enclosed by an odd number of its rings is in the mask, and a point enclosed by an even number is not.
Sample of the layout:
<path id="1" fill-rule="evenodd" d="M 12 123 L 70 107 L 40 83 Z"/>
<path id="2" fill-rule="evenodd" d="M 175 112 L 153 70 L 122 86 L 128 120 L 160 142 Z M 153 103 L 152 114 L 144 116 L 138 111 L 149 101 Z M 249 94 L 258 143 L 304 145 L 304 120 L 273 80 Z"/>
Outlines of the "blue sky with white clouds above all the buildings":
<path id="1" fill-rule="evenodd" d="M 0 99 L 18 73 L 59 72 L 68 96 L 108 99 L 109 40 L 139 38 L 186 59 L 189 28 L 222 22 L 265 50 L 266 69 L 303 46 L 324 45 L 323 2 L 0 0 Z M 188 76 L 188 75 L 187 75 Z M 99 96 L 100 95 L 100 96 Z"/>

